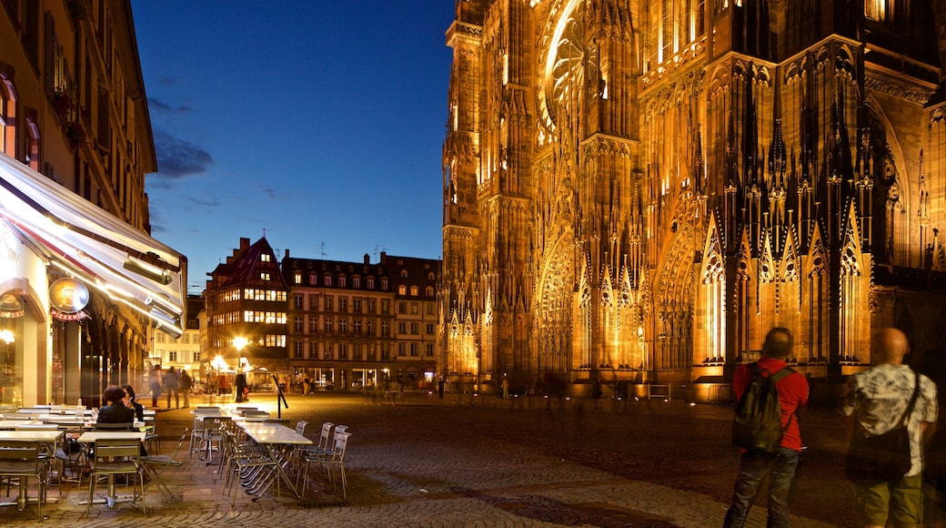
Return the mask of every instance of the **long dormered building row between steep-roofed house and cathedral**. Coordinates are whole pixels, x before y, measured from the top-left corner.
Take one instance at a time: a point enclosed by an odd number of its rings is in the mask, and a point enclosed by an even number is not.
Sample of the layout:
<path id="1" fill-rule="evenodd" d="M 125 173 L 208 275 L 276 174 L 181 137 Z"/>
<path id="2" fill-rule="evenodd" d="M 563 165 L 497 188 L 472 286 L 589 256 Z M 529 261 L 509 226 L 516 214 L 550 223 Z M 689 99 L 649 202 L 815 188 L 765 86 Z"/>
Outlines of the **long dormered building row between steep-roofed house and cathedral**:
<path id="1" fill-rule="evenodd" d="M 387 255 L 372 264 L 286 252 L 289 364 L 315 389 L 422 388 L 436 376 L 438 260 Z"/>

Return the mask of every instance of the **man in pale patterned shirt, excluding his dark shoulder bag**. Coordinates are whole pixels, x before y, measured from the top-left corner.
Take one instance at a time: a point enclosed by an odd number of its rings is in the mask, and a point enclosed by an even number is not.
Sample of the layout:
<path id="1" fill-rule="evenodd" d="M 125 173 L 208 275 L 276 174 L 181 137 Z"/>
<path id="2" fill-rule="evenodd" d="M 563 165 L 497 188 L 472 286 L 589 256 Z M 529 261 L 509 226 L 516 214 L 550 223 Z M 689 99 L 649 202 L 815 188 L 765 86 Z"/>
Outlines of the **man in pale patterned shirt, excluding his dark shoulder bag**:
<path id="1" fill-rule="evenodd" d="M 937 421 L 937 385 L 903 364 L 909 345 L 902 331 L 880 330 L 870 350 L 877 364 L 851 376 L 841 399 L 841 414 L 854 414 L 855 427 L 871 435 L 890 431 L 902 421 L 917 377 L 920 394 L 907 423 L 910 470 L 891 482 L 855 481 L 858 520 L 863 526 L 883 527 L 889 515 L 895 526 L 919 525 L 923 521 L 923 444 L 932 437 Z"/>

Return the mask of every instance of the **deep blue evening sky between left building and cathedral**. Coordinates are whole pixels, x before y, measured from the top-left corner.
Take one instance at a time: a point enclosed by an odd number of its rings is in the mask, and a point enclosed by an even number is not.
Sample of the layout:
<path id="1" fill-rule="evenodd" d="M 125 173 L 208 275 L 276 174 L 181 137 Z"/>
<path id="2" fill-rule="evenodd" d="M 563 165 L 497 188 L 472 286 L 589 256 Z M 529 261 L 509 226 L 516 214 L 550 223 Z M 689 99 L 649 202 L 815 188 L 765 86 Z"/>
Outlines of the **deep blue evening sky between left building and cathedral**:
<path id="1" fill-rule="evenodd" d="M 264 230 L 278 258 L 441 256 L 451 0 L 131 6 L 151 234 L 187 256 L 191 293 Z"/>

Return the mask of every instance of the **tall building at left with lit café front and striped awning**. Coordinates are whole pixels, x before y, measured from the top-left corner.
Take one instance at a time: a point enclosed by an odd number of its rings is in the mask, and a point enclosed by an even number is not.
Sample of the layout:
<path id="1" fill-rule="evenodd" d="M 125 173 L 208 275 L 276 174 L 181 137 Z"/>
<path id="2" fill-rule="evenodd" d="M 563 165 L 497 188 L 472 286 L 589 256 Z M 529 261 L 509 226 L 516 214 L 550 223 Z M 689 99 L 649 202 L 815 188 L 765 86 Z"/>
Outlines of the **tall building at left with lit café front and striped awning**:
<path id="1" fill-rule="evenodd" d="M 156 169 L 131 2 L 0 1 L 0 404 L 96 404 L 182 331 Z"/>

